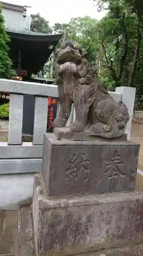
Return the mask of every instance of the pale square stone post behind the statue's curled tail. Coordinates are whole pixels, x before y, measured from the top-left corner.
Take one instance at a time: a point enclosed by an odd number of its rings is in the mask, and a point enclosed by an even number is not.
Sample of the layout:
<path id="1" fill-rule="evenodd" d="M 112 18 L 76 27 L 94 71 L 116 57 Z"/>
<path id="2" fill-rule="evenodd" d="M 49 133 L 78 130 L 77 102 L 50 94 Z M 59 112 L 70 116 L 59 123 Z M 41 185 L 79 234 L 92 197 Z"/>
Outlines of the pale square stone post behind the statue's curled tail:
<path id="1" fill-rule="evenodd" d="M 126 133 L 128 135 L 128 139 L 130 139 L 136 89 L 132 88 L 132 87 L 124 87 L 123 86 L 123 87 L 117 87 L 116 92 L 122 94 L 122 101 L 126 104 L 128 110 L 129 110 L 130 120 L 126 126 Z"/>

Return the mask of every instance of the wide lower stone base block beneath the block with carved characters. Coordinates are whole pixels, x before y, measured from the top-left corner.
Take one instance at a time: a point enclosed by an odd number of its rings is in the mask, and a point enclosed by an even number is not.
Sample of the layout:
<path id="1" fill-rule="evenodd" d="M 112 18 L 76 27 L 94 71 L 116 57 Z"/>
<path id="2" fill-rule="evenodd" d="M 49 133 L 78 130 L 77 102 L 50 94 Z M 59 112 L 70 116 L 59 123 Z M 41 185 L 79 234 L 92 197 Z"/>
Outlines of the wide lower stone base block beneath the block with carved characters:
<path id="1" fill-rule="evenodd" d="M 141 256 L 143 193 L 51 200 L 38 174 L 33 223 L 37 255 Z"/>

